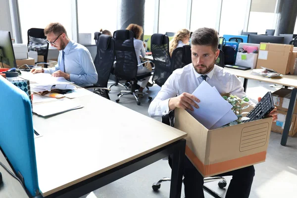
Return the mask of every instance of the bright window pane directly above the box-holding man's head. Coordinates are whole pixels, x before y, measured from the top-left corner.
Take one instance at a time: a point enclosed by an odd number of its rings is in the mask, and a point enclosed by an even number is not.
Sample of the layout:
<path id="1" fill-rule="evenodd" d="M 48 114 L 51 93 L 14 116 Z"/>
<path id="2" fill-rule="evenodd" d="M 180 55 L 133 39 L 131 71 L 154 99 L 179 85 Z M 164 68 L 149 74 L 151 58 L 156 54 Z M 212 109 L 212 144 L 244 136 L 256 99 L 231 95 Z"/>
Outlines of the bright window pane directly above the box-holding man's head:
<path id="1" fill-rule="evenodd" d="M 193 0 L 191 31 L 198 28 L 207 27 L 215 28 L 219 13 L 220 0 Z"/>

